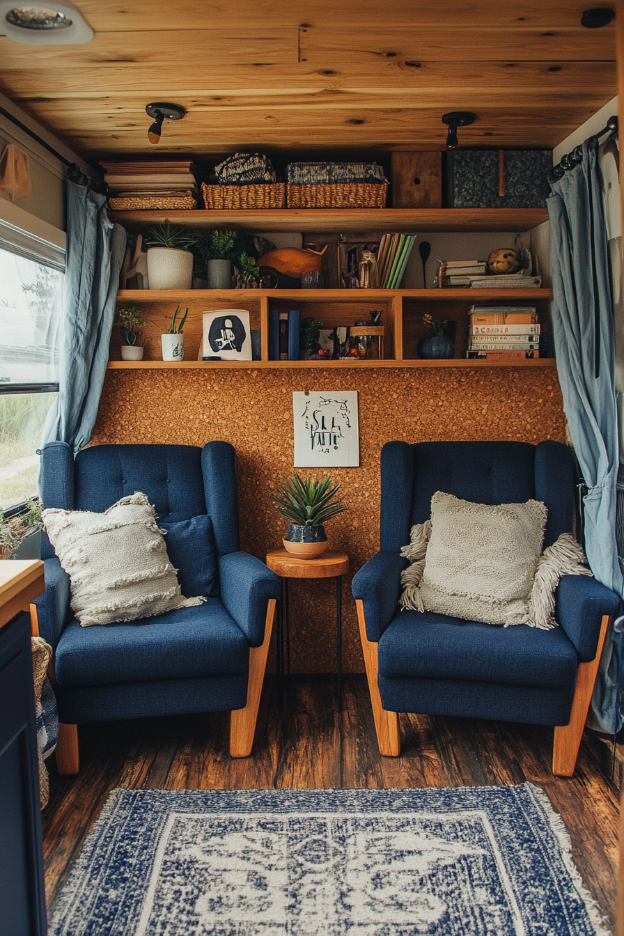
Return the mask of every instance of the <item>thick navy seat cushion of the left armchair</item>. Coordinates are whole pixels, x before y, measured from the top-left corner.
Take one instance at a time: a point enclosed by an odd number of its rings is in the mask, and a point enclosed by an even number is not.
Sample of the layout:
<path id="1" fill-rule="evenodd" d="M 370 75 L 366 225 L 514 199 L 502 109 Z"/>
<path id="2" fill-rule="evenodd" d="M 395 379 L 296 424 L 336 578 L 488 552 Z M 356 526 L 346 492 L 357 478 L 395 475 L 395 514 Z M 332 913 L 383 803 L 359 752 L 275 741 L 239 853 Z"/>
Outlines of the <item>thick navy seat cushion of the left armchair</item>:
<path id="1" fill-rule="evenodd" d="M 182 677 L 246 675 L 249 644 L 218 598 L 143 622 L 80 627 L 73 620 L 56 648 L 61 686 Z"/>

